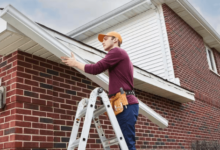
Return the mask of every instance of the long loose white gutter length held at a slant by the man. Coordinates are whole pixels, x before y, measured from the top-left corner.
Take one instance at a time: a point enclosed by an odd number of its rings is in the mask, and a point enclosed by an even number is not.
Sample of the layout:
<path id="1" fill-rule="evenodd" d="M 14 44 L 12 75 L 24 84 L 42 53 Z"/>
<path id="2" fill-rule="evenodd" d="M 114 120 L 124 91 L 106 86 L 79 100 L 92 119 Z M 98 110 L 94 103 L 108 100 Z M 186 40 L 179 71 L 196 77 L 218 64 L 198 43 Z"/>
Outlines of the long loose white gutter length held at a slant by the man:
<path id="1" fill-rule="evenodd" d="M 21 14 L 11 5 L 7 6 L 4 9 L 4 12 L 1 14 L 1 18 L 3 18 L 12 26 L 14 25 L 14 27 L 17 30 L 21 31 L 24 35 L 33 39 L 35 42 L 39 43 L 41 46 L 46 48 L 48 51 L 50 51 L 57 57 L 71 56 L 71 50 L 69 48 L 67 48 L 65 45 L 59 42 L 55 37 L 53 37 L 45 30 L 43 30 L 36 23 L 34 23 L 26 16 Z M 78 56 L 78 54 L 76 53 L 75 53 L 75 57 L 78 61 L 88 64 L 86 60 Z M 80 70 L 78 71 L 108 91 L 109 78 L 104 73 L 95 76 L 95 75 L 87 74 Z M 141 110 L 140 113 L 142 113 L 142 115 L 148 117 L 150 116 L 149 119 L 151 119 L 151 121 L 156 123 L 159 127 L 166 128 L 168 126 L 168 121 L 165 118 L 161 117 L 153 110 L 148 110 L 148 107 L 144 103 L 141 103 L 141 105 L 139 105 L 139 108 Z"/>

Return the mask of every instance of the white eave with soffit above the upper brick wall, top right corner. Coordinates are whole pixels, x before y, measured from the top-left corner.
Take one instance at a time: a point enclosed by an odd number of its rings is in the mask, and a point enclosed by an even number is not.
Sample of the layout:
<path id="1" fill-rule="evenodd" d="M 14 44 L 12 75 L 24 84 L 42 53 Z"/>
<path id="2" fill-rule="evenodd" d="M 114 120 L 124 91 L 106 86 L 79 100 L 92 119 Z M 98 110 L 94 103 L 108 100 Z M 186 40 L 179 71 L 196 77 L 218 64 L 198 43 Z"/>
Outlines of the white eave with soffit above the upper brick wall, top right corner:
<path id="1" fill-rule="evenodd" d="M 220 35 L 187 0 L 152 1 L 158 5 L 163 3 L 167 4 L 178 16 L 203 37 L 204 42 L 209 47 L 215 48 L 220 52 Z"/>

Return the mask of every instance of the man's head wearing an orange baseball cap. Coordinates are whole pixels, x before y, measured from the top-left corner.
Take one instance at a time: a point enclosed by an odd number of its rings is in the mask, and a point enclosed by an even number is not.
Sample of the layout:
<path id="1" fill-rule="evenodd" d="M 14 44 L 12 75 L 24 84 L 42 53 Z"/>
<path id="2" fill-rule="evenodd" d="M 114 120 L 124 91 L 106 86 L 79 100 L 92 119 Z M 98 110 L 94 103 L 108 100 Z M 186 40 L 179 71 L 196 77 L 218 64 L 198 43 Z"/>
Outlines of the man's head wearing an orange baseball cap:
<path id="1" fill-rule="evenodd" d="M 99 34 L 98 39 L 100 42 L 102 42 L 105 51 L 110 51 L 114 47 L 120 47 L 122 44 L 121 35 L 117 32 Z"/>

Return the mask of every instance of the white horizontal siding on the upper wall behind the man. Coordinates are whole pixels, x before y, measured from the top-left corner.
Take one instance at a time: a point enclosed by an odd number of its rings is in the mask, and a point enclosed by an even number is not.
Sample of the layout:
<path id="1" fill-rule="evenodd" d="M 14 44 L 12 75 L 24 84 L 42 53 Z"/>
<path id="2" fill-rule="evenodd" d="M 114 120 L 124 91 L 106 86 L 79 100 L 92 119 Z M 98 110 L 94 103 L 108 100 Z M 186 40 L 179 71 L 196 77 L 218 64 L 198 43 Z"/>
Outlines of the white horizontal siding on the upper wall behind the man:
<path id="1" fill-rule="evenodd" d="M 157 13 L 148 10 L 100 33 L 119 32 L 123 39 L 121 48 L 128 52 L 135 66 L 175 82 L 165 23 L 161 20 L 163 16 Z M 91 36 L 83 42 L 103 50 L 97 36 Z"/>

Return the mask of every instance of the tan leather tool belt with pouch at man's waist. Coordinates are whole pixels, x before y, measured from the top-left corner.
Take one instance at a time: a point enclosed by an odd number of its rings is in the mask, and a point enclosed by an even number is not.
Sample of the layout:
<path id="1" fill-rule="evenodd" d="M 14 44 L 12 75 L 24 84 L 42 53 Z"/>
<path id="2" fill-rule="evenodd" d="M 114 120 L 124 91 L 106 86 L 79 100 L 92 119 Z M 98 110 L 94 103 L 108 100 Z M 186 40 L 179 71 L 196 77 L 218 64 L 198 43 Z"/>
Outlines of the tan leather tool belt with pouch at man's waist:
<path id="1" fill-rule="evenodd" d="M 123 91 L 123 88 L 120 88 L 120 92 L 116 93 L 116 94 L 111 94 L 109 95 L 110 97 L 110 103 L 112 106 L 112 109 L 115 113 L 115 115 L 120 114 L 121 112 L 123 112 L 124 110 L 124 106 L 125 108 L 127 108 L 128 105 L 128 100 L 126 95 L 134 95 L 134 91 Z M 106 116 L 107 113 L 105 112 Z"/>

